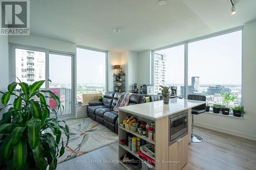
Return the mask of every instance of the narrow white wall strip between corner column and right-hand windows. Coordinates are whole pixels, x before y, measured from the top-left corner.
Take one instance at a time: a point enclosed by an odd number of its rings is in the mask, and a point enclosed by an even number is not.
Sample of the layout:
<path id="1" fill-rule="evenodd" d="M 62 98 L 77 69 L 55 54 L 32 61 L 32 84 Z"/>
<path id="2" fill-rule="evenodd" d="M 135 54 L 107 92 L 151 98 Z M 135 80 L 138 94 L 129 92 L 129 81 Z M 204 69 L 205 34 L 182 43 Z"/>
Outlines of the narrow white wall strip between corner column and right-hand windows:
<path id="1" fill-rule="evenodd" d="M 138 85 L 151 84 L 152 79 L 152 56 L 151 51 L 147 50 L 138 54 Z M 138 87 L 139 87 L 138 86 Z"/>

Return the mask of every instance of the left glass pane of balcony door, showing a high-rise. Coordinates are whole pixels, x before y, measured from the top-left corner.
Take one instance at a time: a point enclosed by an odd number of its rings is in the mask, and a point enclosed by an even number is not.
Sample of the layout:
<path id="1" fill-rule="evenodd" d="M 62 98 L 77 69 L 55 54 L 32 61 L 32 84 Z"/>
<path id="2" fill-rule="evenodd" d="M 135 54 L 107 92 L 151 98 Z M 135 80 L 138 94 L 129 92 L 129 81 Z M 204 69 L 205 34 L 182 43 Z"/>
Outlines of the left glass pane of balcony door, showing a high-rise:
<path id="1" fill-rule="evenodd" d="M 45 53 L 16 48 L 16 77 L 20 81 L 32 84 L 45 80 Z"/>

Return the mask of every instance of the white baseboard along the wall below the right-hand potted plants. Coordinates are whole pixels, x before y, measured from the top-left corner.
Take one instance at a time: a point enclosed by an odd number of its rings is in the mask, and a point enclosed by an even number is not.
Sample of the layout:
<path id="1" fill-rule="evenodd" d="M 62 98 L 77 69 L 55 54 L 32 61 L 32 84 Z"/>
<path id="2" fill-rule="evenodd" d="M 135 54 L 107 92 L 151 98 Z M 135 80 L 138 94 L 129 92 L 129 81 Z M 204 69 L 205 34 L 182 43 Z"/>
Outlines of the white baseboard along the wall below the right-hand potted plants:
<path id="1" fill-rule="evenodd" d="M 245 133 L 241 133 L 241 132 L 236 132 L 236 131 L 231 131 L 231 130 L 228 130 L 228 129 L 223 129 L 223 128 L 210 126 L 210 125 L 206 125 L 206 124 L 202 124 L 202 123 L 196 123 L 195 122 L 194 124 L 195 124 L 195 126 L 202 127 L 202 128 L 205 128 L 205 129 L 210 129 L 210 130 L 226 133 L 226 134 L 229 134 L 229 135 L 238 136 L 238 137 L 242 137 L 242 138 L 245 138 L 245 139 L 256 141 L 256 136 L 253 136 L 253 135 L 249 135 L 249 134 L 245 134 Z"/>

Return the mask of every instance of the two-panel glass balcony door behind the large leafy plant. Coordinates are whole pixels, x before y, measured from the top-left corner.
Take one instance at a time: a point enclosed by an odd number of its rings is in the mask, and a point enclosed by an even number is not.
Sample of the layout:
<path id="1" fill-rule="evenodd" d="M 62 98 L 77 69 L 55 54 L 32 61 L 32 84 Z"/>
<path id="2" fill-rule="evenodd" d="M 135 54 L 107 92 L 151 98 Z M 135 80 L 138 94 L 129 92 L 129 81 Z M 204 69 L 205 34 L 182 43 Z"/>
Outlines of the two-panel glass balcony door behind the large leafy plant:
<path id="1" fill-rule="evenodd" d="M 44 83 L 41 88 L 50 89 L 59 97 L 64 110 L 62 113 L 59 111 L 58 115 L 72 114 L 72 103 L 74 101 L 72 99 L 74 94 L 72 92 L 72 61 L 74 56 L 53 53 L 45 49 L 36 51 L 33 47 L 25 47 L 13 46 L 14 60 L 12 61 L 15 61 L 15 69 L 12 69 L 12 75 L 17 77 L 16 81 L 18 82 L 19 79 L 31 85 L 36 81 L 50 79 L 52 83 Z M 51 108 L 56 108 L 53 99 L 49 99 L 48 102 Z"/>

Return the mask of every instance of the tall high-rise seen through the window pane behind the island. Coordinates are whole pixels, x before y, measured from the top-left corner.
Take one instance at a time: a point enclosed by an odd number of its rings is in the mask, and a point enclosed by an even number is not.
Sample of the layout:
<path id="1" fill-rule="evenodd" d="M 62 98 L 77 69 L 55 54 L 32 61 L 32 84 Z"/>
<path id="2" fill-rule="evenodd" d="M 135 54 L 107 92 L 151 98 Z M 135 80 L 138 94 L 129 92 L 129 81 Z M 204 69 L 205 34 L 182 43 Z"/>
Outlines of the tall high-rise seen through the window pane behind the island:
<path id="1" fill-rule="evenodd" d="M 166 79 L 165 79 L 165 74 L 166 74 L 166 54 L 160 53 L 160 52 L 155 52 L 154 56 L 154 84 L 155 84 L 155 92 L 159 93 L 161 92 L 161 86 L 166 85 Z"/>

